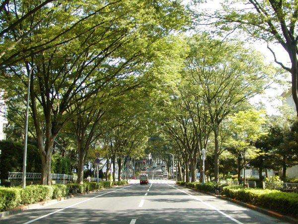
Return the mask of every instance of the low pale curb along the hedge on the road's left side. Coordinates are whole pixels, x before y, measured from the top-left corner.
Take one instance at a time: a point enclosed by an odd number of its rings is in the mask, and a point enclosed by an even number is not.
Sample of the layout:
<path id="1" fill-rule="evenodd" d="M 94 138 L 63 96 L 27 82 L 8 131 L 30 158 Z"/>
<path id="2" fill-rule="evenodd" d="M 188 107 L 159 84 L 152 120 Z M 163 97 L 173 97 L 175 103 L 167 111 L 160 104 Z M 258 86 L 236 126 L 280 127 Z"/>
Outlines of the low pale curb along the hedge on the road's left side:
<path id="1" fill-rule="evenodd" d="M 112 186 L 110 188 L 117 188 L 117 187 L 122 187 L 122 186 L 126 186 L 126 185 L 127 184 L 120 185 L 120 186 Z M 49 201 L 38 202 L 38 203 L 35 203 L 35 204 L 16 207 L 16 208 L 13 208 L 13 209 L 8 210 L 8 211 L 0 212 L 0 218 L 4 218 L 4 217 L 7 217 L 7 216 L 11 216 L 11 215 L 16 215 L 16 214 L 19 214 L 19 213 L 21 213 L 23 211 L 26 211 L 26 210 L 40 209 L 40 208 L 43 208 L 44 206 L 54 205 L 54 204 L 57 204 L 59 202 L 63 202 L 64 200 L 75 198 L 76 196 L 94 194 L 94 193 L 97 193 L 97 192 L 100 192 L 100 191 L 103 191 L 103 190 L 106 190 L 106 189 L 110 189 L 110 188 L 103 188 L 103 189 L 100 189 L 100 190 L 88 191 L 88 192 L 84 192 L 82 194 L 70 195 L 70 196 L 67 196 L 67 197 L 62 197 L 62 198 L 52 199 L 52 200 L 49 200 Z"/>

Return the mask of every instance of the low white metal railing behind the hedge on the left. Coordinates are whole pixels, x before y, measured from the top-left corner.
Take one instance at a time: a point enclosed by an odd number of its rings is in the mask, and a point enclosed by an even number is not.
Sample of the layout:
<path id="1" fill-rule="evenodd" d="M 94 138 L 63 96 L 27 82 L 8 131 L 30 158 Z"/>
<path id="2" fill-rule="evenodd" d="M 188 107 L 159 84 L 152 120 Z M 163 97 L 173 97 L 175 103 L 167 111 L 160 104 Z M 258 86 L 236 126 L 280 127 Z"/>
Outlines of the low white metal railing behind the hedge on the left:
<path id="1" fill-rule="evenodd" d="M 22 172 L 8 172 L 8 180 L 9 179 L 22 179 Z M 67 174 L 59 174 L 59 173 L 51 173 L 51 179 L 56 180 L 68 180 L 68 181 L 76 181 L 77 176 L 67 175 Z M 40 179 L 41 173 L 26 173 L 26 179 Z"/>

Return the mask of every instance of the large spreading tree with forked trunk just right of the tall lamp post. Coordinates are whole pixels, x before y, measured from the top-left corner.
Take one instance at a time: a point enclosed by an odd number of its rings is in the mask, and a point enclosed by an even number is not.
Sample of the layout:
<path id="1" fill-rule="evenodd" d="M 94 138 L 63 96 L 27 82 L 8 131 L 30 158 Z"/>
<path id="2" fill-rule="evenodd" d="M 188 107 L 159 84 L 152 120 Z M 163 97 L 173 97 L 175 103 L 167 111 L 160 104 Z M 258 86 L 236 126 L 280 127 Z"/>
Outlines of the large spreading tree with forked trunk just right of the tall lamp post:
<path id="1" fill-rule="evenodd" d="M 22 63 L 15 65 L 14 61 L 13 66 L 9 66 L 2 76 L 3 81 L 17 77 L 13 79 L 14 84 L 18 87 L 23 85 L 23 89 L 27 83 L 23 72 L 27 76 L 31 73 L 30 108 L 42 158 L 43 184 L 50 184 L 53 144 L 64 124 L 101 88 L 127 77 L 131 67 L 142 64 L 147 68 L 149 65 L 144 57 L 148 56 L 148 46 L 172 29 L 180 28 L 184 22 L 184 19 L 174 19 L 182 15 L 183 7 L 179 2 L 80 3 L 79 12 L 72 11 L 78 20 L 70 23 L 79 21 L 79 18 L 91 19 L 79 23 L 68 35 L 61 35 L 57 39 L 56 29 L 62 27 L 69 30 L 63 25 L 65 14 L 62 14 L 64 16 L 55 20 L 51 33 L 43 32 L 36 39 L 38 42 L 39 38 L 45 38 L 53 46 L 30 51 L 27 57 L 17 60 Z M 161 20 L 165 14 L 168 16 Z M 52 23 L 44 21 L 39 25 L 49 30 L 48 26 Z M 74 38 L 77 32 L 80 35 Z M 9 57 L 13 58 L 13 55 Z M 141 71 L 138 72 L 135 73 L 136 77 L 142 75 Z M 9 91 L 9 88 L 6 89 Z"/>

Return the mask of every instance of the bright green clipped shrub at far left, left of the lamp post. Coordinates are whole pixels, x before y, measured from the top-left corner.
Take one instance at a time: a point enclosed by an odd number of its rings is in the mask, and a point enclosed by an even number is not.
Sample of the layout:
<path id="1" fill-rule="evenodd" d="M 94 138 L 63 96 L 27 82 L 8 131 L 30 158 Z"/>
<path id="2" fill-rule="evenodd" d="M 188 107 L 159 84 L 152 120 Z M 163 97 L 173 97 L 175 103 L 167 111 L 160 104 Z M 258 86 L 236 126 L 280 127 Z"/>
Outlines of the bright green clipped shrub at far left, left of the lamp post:
<path id="1" fill-rule="evenodd" d="M 21 205 L 21 188 L 0 188 L 0 212 Z"/>

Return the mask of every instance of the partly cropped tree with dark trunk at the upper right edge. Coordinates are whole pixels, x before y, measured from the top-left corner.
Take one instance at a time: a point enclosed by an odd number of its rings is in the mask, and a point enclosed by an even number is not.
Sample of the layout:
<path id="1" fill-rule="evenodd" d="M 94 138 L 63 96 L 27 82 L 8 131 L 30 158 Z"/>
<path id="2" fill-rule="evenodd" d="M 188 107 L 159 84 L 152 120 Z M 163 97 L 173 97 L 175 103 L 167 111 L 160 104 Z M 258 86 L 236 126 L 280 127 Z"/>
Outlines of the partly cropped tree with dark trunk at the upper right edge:
<path id="1" fill-rule="evenodd" d="M 253 38 L 265 40 L 275 62 L 292 75 L 292 96 L 298 112 L 297 0 L 224 0 L 222 9 L 215 14 L 200 13 L 200 16 L 226 33 L 245 31 Z M 278 61 L 270 42 L 278 43 L 287 51 L 290 67 Z"/>

